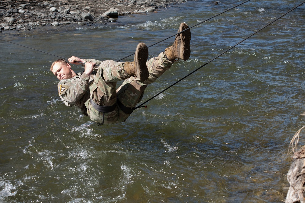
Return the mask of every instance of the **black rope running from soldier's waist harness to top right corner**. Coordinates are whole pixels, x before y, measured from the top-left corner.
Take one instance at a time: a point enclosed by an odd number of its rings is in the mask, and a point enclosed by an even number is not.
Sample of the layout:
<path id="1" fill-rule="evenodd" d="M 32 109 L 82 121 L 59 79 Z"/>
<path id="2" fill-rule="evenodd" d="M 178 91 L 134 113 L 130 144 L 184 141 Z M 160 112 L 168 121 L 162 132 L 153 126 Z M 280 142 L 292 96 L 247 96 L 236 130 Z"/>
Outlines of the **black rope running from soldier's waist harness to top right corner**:
<path id="1" fill-rule="evenodd" d="M 249 35 L 248 37 L 246 37 L 245 39 L 241 40 L 239 43 L 235 44 L 234 46 L 232 46 L 231 48 L 228 48 L 226 51 L 222 52 L 221 54 L 219 54 L 218 56 L 216 56 L 215 58 L 211 59 L 210 61 L 206 62 L 205 64 L 203 64 L 202 66 L 200 66 L 199 68 L 197 68 L 196 70 L 194 70 L 193 72 L 189 73 L 188 75 L 184 76 L 183 78 L 181 78 L 180 80 L 178 80 L 177 82 L 175 82 L 174 84 L 170 85 L 169 87 L 167 87 L 166 89 L 162 90 L 160 93 L 156 94 L 155 96 L 153 96 L 152 98 L 150 98 L 149 100 L 145 101 L 144 103 L 140 104 L 138 107 L 135 107 L 135 109 L 140 108 L 140 107 L 145 107 L 146 106 L 142 106 L 145 103 L 149 102 L 150 100 L 154 99 L 156 96 L 160 95 L 161 93 L 165 92 L 167 89 L 171 88 L 172 86 L 176 85 L 178 82 L 180 82 L 181 80 L 187 78 L 188 76 L 192 75 L 194 72 L 198 71 L 200 68 L 202 68 L 203 66 L 209 64 L 210 62 L 214 61 L 216 58 L 220 57 L 221 55 L 223 55 L 224 53 L 230 51 L 231 49 L 233 49 L 234 47 L 236 47 L 237 45 L 241 44 L 243 41 L 249 39 L 250 37 L 252 37 L 253 35 L 255 35 L 256 33 L 258 33 L 259 31 L 263 30 L 264 28 L 266 28 L 267 26 L 271 25 L 272 23 L 274 23 L 275 21 L 277 21 L 278 19 L 282 18 L 283 16 L 285 16 L 286 14 L 288 14 L 289 12 L 293 11 L 294 9 L 298 8 L 300 5 L 304 4 L 304 2 L 300 3 L 299 5 L 297 5 L 296 7 L 292 8 L 291 10 L 289 10 L 288 12 L 284 13 L 282 16 L 278 17 L 277 19 L 271 21 L 270 23 L 268 23 L 267 25 L 265 25 L 264 27 L 260 28 L 259 30 L 257 30 L 256 32 L 252 33 L 251 35 Z"/>

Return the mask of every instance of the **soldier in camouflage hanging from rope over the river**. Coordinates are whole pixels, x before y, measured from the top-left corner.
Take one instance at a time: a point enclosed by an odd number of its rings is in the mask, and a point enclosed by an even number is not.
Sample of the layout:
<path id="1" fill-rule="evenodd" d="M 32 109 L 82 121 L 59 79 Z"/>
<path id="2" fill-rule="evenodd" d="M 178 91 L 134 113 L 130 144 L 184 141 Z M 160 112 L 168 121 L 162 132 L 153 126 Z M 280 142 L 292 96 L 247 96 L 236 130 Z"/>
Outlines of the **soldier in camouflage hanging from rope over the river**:
<path id="1" fill-rule="evenodd" d="M 188 25 L 181 23 L 178 33 Z M 58 93 L 66 106 L 76 105 L 82 113 L 97 124 L 112 124 L 125 121 L 143 97 L 148 84 L 156 81 L 174 61 L 188 60 L 191 31 L 188 29 L 175 37 L 174 44 L 160 53 L 148 58 L 148 48 L 139 43 L 134 61 L 115 62 L 68 58 L 72 64 L 85 63 L 84 72 L 75 73 L 70 63 L 63 59 L 52 63 L 50 70 L 60 80 Z M 99 65 L 99 66 L 96 66 Z M 91 74 L 97 70 L 96 75 Z M 124 80 L 116 90 L 118 81 Z"/>

